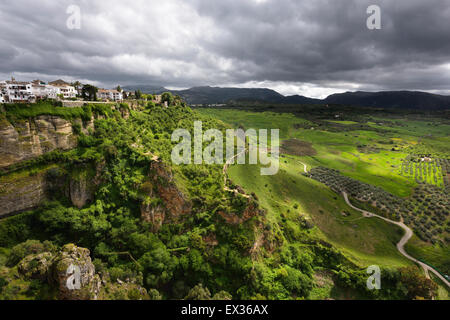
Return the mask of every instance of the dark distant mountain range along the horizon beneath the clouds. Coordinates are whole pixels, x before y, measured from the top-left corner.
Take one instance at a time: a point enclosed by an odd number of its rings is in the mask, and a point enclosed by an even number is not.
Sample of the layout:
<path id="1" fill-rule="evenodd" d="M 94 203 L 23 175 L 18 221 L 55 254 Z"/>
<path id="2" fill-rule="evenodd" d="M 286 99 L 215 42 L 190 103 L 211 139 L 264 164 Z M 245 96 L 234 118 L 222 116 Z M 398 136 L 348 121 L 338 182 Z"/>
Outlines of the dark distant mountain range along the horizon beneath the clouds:
<path id="1" fill-rule="evenodd" d="M 304 96 L 283 96 L 264 88 L 193 87 L 186 90 L 169 90 L 158 86 L 128 86 L 125 90 L 140 89 L 143 93 L 170 91 L 180 95 L 189 104 L 225 104 L 230 101 L 261 101 L 284 104 L 341 104 L 347 106 L 442 110 L 450 109 L 450 96 L 420 91 L 345 92 L 332 94 L 325 99 Z"/>

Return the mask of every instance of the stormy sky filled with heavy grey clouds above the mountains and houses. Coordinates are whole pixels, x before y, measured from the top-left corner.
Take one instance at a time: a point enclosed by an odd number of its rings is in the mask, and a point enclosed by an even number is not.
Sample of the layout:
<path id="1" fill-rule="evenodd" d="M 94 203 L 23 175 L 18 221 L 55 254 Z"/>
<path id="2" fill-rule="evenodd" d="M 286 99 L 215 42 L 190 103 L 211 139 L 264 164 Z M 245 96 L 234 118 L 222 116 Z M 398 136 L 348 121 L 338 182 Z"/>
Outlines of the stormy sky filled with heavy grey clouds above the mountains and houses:
<path id="1" fill-rule="evenodd" d="M 450 0 L 15 0 L 0 30 L 1 79 L 450 95 Z"/>

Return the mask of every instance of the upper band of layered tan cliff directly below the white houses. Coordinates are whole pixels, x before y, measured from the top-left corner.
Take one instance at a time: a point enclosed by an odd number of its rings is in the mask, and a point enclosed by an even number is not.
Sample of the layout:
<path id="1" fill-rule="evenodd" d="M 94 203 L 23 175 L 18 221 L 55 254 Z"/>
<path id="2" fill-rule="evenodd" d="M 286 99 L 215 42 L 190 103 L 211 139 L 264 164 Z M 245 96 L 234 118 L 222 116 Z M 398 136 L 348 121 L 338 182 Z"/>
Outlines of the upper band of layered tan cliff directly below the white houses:
<path id="1" fill-rule="evenodd" d="M 81 125 L 81 120 L 75 120 Z M 93 121 L 82 130 L 93 128 Z M 0 121 L 0 168 L 41 156 L 53 150 L 76 147 L 72 123 L 55 116 L 38 116 L 30 120 Z"/>

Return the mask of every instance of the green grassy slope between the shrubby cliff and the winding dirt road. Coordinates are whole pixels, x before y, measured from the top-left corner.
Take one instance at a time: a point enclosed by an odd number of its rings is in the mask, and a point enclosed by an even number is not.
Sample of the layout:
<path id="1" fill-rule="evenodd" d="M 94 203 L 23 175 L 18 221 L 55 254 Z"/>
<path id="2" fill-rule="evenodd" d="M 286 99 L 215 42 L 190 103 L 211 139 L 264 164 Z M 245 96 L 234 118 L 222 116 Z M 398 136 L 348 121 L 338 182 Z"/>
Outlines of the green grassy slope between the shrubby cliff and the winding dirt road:
<path id="1" fill-rule="evenodd" d="M 283 216 L 294 220 L 304 215 L 317 226 L 313 233 L 339 247 L 361 267 L 409 264 L 395 248 L 401 229 L 378 219 L 362 218 L 342 197 L 304 177 L 302 172 L 303 165 L 296 157 L 285 157 L 281 159 L 280 172 L 274 176 L 261 176 L 259 168 L 251 165 L 233 166 L 229 175 L 246 191 L 256 193 L 270 219 L 280 222 Z M 350 215 L 343 216 L 343 212 Z"/>

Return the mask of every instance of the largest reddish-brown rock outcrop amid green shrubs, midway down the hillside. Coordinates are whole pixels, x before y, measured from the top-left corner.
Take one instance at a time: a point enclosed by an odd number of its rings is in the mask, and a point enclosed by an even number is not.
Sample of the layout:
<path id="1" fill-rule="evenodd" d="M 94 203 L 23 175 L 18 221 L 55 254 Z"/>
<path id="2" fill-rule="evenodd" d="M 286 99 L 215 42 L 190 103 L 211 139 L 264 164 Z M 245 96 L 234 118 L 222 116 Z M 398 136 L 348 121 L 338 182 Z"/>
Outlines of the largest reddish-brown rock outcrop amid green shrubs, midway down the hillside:
<path id="1" fill-rule="evenodd" d="M 153 224 L 153 231 L 158 231 L 165 222 L 175 221 L 180 216 L 191 213 L 191 202 L 178 189 L 170 168 L 159 160 L 150 165 L 145 193 L 147 199 L 161 200 L 144 201 L 141 205 L 142 219 Z"/>

